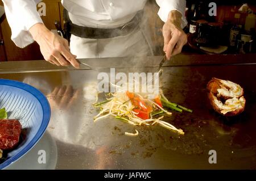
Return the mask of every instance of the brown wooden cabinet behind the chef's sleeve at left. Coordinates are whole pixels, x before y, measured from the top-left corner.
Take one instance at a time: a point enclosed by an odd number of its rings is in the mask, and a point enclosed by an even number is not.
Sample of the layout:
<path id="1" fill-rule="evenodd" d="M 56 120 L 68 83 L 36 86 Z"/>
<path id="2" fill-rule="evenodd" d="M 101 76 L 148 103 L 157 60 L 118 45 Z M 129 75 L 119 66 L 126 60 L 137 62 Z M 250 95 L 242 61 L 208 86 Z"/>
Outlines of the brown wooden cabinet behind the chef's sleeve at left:
<path id="1" fill-rule="evenodd" d="M 43 19 L 44 24 L 47 28 L 49 28 L 49 30 L 55 30 L 55 20 L 60 21 L 62 19 L 61 16 L 63 7 L 60 3 L 60 0 L 43 0 L 42 2 L 46 7 L 46 14 L 45 16 L 41 16 L 41 18 Z M 0 1 L 0 3 L 3 4 L 2 1 Z M 38 4 L 38 10 L 42 8 L 42 6 L 40 5 L 42 4 Z M 40 53 L 40 48 L 37 43 L 32 43 L 26 48 L 16 47 L 13 41 L 11 41 L 11 28 L 7 22 L 7 19 L 3 20 L 0 29 L 2 29 L 2 33 L 0 31 L 0 40 L 3 39 L 4 43 L 4 45 L 0 45 L 0 60 L 43 60 L 43 56 Z"/>

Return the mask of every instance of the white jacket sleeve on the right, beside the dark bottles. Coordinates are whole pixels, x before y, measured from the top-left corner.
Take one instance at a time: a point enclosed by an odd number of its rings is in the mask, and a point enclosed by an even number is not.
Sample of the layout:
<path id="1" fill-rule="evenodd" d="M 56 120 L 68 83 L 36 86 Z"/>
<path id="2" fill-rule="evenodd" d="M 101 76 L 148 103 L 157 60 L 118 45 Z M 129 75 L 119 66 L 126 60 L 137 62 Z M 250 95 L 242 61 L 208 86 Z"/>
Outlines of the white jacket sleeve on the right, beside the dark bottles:
<path id="1" fill-rule="evenodd" d="M 172 10 L 177 10 L 182 14 L 181 27 L 184 28 L 187 25 L 187 20 L 185 18 L 186 1 L 185 0 L 156 0 L 158 6 L 160 7 L 158 11 L 159 18 L 166 22 L 168 14 Z"/>

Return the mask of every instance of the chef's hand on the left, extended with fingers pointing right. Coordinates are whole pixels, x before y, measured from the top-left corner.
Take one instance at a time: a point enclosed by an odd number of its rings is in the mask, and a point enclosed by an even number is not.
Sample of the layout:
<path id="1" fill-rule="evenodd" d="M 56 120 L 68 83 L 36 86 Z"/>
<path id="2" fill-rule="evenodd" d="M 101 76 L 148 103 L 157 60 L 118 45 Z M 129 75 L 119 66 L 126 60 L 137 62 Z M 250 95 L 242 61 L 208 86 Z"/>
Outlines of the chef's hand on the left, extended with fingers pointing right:
<path id="1" fill-rule="evenodd" d="M 76 56 L 70 52 L 66 39 L 49 31 L 42 23 L 36 23 L 29 31 L 33 39 L 39 44 L 46 61 L 58 66 L 72 64 L 75 68 L 79 68 Z"/>

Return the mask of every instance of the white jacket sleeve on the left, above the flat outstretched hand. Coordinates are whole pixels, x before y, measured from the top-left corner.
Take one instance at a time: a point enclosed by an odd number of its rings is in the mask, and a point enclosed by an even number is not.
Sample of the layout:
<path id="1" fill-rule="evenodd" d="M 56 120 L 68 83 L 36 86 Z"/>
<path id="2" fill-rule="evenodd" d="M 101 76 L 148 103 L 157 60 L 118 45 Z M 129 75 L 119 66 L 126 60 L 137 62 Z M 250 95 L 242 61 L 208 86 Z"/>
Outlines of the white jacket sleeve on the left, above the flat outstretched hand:
<path id="1" fill-rule="evenodd" d="M 43 23 L 36 5 L 40 0 L 2 0 L 5 13 L 11 27 L 11 40 L 24 48 L 34 42 L 28 31 L 34 24 Z"/>

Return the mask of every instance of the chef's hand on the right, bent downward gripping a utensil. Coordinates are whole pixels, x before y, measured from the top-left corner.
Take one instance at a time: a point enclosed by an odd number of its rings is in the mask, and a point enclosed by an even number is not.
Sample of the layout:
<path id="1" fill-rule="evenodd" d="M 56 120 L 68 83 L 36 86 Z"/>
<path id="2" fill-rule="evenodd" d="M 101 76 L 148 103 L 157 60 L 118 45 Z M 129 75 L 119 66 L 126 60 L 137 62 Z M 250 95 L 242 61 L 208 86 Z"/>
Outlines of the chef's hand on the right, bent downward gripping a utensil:
<path id="1" fill-rule="evenodd" d="M 171 56 L 179 54 L 183 45 L 187 44 L 187 35 L 181 28 L 180 12 L 170 11 L 167 22 L 163 26 L 164 52 L 169 60 Z"/>

